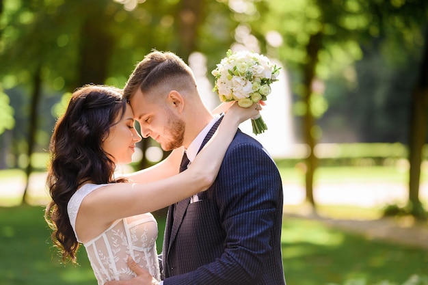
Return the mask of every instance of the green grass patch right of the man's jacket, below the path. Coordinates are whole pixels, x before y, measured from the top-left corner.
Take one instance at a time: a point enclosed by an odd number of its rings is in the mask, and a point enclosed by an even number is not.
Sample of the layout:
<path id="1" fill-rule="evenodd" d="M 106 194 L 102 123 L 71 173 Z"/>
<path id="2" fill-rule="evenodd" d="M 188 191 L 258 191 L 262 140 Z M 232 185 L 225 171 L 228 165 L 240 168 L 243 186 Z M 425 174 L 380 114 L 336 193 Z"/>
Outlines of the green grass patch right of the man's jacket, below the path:
<path id="1" fill-rule="evenodd" d="M 299 218 L 284 219 L 282 253 L 286 281 L 291 285 L 349 280 L 403 284 L 411 275 L 428 272 L 427 250 L 372 241 Z"/>

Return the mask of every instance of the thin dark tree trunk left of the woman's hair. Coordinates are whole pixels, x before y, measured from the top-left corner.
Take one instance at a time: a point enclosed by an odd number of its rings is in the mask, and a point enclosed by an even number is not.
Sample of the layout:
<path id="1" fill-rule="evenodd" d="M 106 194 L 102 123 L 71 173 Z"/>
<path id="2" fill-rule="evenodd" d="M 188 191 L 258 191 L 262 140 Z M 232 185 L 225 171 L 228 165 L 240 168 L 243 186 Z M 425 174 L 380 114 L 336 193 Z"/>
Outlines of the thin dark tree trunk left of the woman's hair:
<path id="1" fill-rule="evenodd" d="M 30 103 L 30 116 L 29 116 L 29 129 L 28 129 L 28 148 L 27 148 L 27 157 L 28 164 L 25 169 L 25 189 L 23 195 L 22 204 L 27 204 L 28 198 L 28 187 L 29 187 L 29 176 L 33 172 L 33 167 L 31 166 L 31 155 L 34 152 L 34 146 L 36 145 L 36 133 L 38 128 L 38 105 L 40 99 L 42 98 L 42 79 L 40 78 L 40 66 L 36 68 L 33 77 L 33 92 L 31 94 L 31 103 Z"/>

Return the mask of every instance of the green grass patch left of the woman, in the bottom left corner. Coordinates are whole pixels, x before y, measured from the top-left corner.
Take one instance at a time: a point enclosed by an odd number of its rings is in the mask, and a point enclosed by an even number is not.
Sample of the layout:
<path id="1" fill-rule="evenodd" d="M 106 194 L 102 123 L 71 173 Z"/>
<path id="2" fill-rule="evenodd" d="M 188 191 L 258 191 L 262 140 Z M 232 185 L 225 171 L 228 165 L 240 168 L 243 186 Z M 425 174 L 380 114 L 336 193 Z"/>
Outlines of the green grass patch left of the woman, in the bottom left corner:
<path id="1" fill-rule="evenodd" d="M 96 284 L 84 249 L 79 265 L 61 264 L 42 206 L 0 208 L 0 284 Z"/>

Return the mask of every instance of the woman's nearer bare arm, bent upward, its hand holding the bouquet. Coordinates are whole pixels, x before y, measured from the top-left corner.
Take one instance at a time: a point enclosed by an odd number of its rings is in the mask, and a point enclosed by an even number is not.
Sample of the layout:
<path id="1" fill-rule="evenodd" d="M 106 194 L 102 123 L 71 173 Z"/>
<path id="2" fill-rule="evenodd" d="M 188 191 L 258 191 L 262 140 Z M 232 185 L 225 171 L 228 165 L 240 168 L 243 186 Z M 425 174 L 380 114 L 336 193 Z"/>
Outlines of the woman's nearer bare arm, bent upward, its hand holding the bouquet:
<path id="1" fill-rule="evenodd" d="M 232 105 L 213 138 L 189 169 L 156 182 L 116 183 L 96 189 L 83 200 L 79 215 L 91 217 L 94 224 L 107 224 L 123 217 L 159 210 L 206 190 L 213 184 L 239 124 L 257 114 L 256 105 L 250 108 Z"/>

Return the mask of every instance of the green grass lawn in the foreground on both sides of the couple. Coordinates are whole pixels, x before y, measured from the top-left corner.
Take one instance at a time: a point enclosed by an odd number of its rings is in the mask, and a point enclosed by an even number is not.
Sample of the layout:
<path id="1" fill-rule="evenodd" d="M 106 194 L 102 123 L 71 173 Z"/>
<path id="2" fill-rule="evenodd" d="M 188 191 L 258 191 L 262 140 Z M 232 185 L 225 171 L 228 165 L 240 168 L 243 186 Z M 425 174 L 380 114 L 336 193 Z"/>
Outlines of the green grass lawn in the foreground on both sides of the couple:
<path id="1" fill-rule="evenodd" d="M 163 232 L 163 219 L 157 218 Z M 370 241 L 299 218 L 284 219 L 282 254 L 289 285 L 364 285 L 382 280 L 401 285 L 411 275 L 428 275 L 427 250 Z M 78 266 L 59 262 L 42 206 L 0 208 L 1 285 L 96 284 L 83 248 L 78 259 Z"/>

